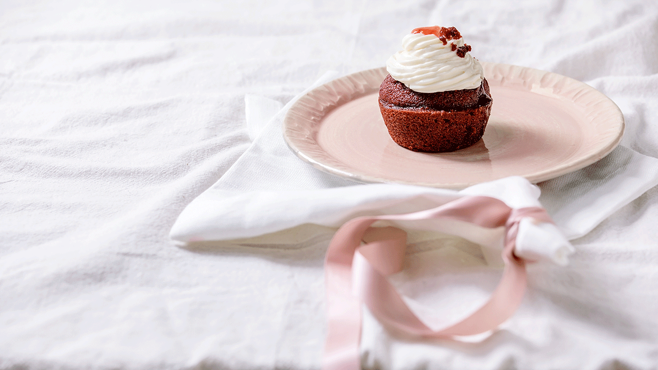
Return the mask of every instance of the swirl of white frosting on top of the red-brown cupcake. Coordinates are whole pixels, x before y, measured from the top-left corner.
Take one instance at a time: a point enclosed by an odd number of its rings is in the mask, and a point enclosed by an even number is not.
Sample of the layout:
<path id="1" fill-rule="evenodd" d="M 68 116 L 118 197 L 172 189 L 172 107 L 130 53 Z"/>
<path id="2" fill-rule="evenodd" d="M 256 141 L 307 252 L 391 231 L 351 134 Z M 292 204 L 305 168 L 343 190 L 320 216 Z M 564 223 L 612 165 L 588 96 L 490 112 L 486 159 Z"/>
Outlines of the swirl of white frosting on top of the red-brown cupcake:
<path id="1" fill-rule="evenodd" d="M 464 38 L 443 41 L 433 34 L 409 34 L 402 39 L 402 51 L 386 61 L 391 76 L 411 90 L 422 93 L 478 88 L 484 72 L 474 57 L 459 57 L 453 51 L 464 46 Z"/>

